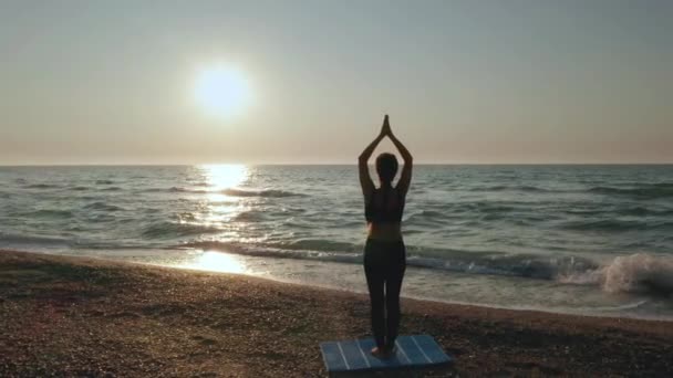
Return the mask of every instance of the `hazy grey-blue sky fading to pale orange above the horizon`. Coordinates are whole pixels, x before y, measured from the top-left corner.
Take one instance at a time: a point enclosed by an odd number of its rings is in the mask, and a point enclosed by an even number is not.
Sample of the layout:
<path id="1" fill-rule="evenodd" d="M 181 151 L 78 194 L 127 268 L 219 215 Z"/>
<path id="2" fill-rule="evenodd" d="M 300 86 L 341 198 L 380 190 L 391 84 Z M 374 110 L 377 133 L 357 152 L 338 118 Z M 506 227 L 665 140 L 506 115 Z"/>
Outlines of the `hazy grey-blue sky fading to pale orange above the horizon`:
<path id="1" fill-rule="evenodd" d="M 673 1 L 0 2 L 0 165 L 673 162 Z M 208 112 L 199 74 L 250 98 Z M 379 151 L 391 150 L 385 141 Z"/>

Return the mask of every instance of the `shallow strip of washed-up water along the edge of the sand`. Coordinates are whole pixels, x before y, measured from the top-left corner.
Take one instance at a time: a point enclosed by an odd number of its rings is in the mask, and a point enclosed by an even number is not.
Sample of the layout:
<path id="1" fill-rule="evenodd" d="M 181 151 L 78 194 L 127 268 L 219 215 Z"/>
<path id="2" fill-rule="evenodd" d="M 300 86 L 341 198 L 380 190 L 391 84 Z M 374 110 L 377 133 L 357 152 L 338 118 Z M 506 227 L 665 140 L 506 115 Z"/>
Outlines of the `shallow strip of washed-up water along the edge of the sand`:
<path id="1" fill-rule="evenodd" d="M 361 264 L 354 265 L 351 262 L 276 256 L 273 264 L 269 264 L 266 258 L 226 250 L 162 249 L 151 253 L 147 252 L 153 250 L 131 251 L 131 254 L 118 254 L 118 251 L 113 254 L 45 253 L 172 269 L 237 273 L 277 282 L 366 294 Z M 482 285 L 485 281 L 488 283 Z M 645 296 L 642 293 L 605 293 L 599 283 L 568 283 L 560 286 L 557 286 L 557 280 L 474 274 L 407 265 L 402 297 L 498 309 L 673 322 L 673 307 L 665 297 Z M 478 290 L 475 285 L 479 286 Z M 493 290 L 490 287 L 498 288 L 497 296 L 487 294 Z M 547 303 L 547 297 L 540 293 L 553 295 L 556 300 Z M 581 301 L 574 302 L 576 298 Z M 537 300 L 542 302 L 536 302 Z M 662 304 L 664 307 L 661 307 Z"/>

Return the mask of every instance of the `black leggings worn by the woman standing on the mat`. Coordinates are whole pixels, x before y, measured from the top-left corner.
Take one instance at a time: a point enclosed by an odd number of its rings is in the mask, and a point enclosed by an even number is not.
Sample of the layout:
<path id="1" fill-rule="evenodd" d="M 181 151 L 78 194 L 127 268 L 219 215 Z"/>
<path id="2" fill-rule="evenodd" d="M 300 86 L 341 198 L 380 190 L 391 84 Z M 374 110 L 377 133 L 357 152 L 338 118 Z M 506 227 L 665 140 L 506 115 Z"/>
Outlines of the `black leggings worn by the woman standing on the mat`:
<path id="1" fill-rule="evenodd" d="M 406 249 L 402 240 L 366 240 L 364 274 L 372 303 L 372 332 L 380 348 L 395 345 L 400 328 L 400 290 L 405 269 Z"/>

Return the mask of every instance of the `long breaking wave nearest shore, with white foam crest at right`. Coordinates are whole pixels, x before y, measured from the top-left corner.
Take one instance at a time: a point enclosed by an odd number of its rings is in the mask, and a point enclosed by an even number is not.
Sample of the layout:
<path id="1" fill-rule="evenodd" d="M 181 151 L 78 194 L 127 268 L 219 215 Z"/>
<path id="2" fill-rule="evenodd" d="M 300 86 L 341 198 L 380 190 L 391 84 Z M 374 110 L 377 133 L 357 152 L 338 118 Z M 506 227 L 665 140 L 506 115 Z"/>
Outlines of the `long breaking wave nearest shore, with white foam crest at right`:
<path id="1" fill-rule="evenodd" d="M 304 240 L 294 243 L 247 244 L 239 242 L 197 241 L 178 248 L 214 250 L 250 256 L 362 263 L 362 245 Z M 410 250 L 418 250 L 411 246 Z M 437 256 L 443 254 L 442 258 Z M 673 260 L 645 253 L 615 258 L 607 265 L 573 255 L 542 256 L 501 252 L 444 250 L 410 253 L 408 266 L 468 274 L 518 276 L 557 281 L 563 284 L 599 285 L 608 292 L 646 292 L 673 294 Z"/>

